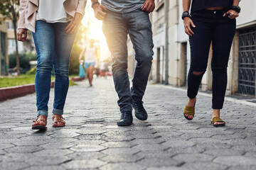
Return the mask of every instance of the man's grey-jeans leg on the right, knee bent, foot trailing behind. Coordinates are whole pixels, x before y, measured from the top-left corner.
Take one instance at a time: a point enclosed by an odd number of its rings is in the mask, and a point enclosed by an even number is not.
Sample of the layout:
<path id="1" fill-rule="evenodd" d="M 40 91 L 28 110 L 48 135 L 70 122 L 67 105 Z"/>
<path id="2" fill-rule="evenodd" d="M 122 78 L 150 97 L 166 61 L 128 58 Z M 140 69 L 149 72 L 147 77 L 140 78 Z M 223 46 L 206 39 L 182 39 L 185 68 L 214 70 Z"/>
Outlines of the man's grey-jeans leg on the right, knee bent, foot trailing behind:
<path id="1" fill-rule="evenodd" d="M 129 13 L 128 26 L 137 60 L 134 79 L 132 79 L 132 100 L 142 101 L 154 55 L 149 13 L 140 10 Z"/>

